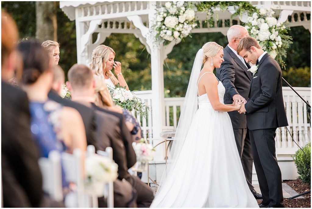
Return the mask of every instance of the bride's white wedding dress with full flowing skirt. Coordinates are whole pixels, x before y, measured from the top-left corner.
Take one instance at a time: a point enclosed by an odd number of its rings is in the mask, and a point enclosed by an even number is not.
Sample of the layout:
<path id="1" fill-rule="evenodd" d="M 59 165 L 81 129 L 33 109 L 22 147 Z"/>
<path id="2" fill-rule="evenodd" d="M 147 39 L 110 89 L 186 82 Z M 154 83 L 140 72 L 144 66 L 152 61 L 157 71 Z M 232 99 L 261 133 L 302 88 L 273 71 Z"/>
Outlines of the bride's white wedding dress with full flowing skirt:
<path id="1" fill-rule="evenodd" d="M 217 88 L 224 103 L 220 81 Z M 259 207 L 246 183 L 229 115 L 213 110 L 207 93 L 197 98 L 199 108 L 176 164 L 151 207 Z"/>

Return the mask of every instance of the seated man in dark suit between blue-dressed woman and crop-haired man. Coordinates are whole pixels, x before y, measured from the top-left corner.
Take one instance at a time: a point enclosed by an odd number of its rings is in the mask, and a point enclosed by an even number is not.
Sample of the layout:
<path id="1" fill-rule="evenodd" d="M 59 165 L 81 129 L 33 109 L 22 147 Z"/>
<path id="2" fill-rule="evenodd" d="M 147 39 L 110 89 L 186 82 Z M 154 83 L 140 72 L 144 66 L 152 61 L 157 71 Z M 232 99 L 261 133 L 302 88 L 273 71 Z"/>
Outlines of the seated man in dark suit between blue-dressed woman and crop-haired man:
<path id="1" fill-rule="evenodd" d="M 66 107 L 75 108 L 81 115 L 82 121 L 85 126 L 85 134 L 87 137 L 87 144 L 95 144 L 95 118 L 94 111 L 78 102 L 73 102 L 69 99 L 60 97 L 60 91 L 62 89 L 62 84 L 65 83 L 64 71 L 59 65 L 53 66 L 53 84 L 51 91 L 48 93 L 48 97 L 57 103 L 60 103 Z"/>

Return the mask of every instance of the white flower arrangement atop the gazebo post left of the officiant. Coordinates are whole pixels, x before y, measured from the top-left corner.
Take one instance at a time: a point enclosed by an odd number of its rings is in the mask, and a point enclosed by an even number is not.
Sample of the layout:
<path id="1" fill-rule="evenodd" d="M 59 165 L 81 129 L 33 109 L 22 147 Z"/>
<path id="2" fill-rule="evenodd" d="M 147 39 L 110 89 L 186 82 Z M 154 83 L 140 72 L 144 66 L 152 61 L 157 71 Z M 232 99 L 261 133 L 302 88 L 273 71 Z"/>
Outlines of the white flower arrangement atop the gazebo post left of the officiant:
<path id="1" fill-rule="evenodd" d="M 156 31 L 156 42 L 181 40 L 196 26 L 192 2 L 166 2 L 156 9 L 156 20 L 152 26 Z"/>

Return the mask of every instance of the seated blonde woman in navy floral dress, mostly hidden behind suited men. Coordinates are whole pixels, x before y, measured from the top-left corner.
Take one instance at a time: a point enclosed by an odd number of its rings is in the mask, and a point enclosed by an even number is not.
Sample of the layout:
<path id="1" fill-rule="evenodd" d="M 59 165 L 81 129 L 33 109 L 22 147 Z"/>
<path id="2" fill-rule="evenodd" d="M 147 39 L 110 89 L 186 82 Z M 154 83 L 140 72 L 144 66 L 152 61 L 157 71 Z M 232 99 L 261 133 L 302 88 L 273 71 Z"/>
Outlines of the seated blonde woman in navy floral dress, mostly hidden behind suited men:
<path id="1" fill-rule="evenodd" d="M 138 140 L 140 140 L 143 135 L 137 119 L 132 116 L 129 110 L 122 109 L 119 106 L 115 106 L 113 99 L 105 84 L 105 80 L 97 75 L 94 75 L 93 78 L 95 80 L 95 105 L 122 114 L 124 116 L 125 124 L 131 133 L 133 141 L 137 142 Z"/>

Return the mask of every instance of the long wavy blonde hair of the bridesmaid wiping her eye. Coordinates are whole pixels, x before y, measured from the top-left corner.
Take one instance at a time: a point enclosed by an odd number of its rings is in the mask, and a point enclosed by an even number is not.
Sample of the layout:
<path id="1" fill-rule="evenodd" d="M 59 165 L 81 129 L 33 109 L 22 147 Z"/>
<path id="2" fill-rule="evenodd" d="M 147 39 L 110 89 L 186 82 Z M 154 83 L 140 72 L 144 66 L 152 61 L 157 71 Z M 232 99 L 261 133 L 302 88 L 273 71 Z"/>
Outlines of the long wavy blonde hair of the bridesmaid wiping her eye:
<path id="1" fill-rule="evenodd" d="M 113 52 L 115 56 L 115 51 L 112 48 L 101 44 L 93 50 L 91 55 L 90 69 L 96 75 L 100 76 L 103 79 L 104 79 L 103 69 L 105 69 L 106 67 L 105 63 L 110 59 L 110 52 Z M 112 80 L 114 85 L 117 85 L 118 80 L 111 70 L 105 71 L 105 75 Z"/>

